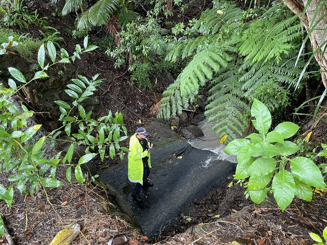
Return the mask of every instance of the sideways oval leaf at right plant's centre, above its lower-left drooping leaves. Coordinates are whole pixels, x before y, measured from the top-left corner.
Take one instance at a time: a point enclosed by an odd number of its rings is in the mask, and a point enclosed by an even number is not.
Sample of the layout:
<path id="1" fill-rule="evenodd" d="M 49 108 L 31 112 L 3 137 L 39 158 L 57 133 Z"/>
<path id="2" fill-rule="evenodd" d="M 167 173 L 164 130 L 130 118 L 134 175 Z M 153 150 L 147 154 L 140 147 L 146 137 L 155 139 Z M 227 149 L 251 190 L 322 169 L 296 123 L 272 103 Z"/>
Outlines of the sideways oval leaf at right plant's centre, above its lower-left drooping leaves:
<path id="1" fill-rule="evenodd" d="M 273 158 L 258 158 L 249 167 L 248 172 L 251 176 L 263 176 L 270 174 L 276 168 L 277 160 Z"/>

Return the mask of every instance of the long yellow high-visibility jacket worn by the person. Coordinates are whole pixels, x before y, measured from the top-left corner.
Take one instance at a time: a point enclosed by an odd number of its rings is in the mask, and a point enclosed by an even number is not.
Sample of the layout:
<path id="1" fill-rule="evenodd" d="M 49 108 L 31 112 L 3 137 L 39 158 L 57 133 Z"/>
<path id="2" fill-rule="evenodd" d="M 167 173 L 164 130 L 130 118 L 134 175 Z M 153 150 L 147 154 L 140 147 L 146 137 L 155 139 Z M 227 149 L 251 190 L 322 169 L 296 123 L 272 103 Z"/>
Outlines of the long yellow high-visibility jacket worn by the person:
<path id="1" fill-rule="evenodd" d="M 149 142 L 147 144 L 150 145 Z M 129 140 L 128 180 L 133 183 L 140 183 L 141 185 L 143 185 L 143 157 L 149 157 L 147 163 L 151 168 L 150 152 L 143 152 L 143 148 L 135 133 Z"/>

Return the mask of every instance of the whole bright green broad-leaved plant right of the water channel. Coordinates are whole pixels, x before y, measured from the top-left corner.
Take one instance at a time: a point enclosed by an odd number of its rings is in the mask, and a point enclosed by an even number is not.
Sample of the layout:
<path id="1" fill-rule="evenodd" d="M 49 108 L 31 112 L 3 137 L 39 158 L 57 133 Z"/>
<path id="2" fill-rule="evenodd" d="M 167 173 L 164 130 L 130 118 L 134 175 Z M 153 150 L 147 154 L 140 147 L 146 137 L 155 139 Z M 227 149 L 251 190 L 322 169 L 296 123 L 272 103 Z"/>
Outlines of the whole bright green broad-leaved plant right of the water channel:
<path id="1" fill-rule="evenodd" d="M 225 148 L 226 153 L 237 156 L 235 177 L 250 177 L 247 192 L 255 203 L 261 203 L 268 191 L 274 194 L 282 210 L 290 205 L 294 196 L 311 201 L 311 186 L 324 189 L 326 185 L 319 168 L 311 159 L 292 157 L 299 148 L 286 139 L 295 135 L 299 127 L 285 121 L 268 132 L 271 115 L 257 99 L 251 107 L 251 115 L 256 118 L 252 122 L 259 134 L 233 140 Z"/>

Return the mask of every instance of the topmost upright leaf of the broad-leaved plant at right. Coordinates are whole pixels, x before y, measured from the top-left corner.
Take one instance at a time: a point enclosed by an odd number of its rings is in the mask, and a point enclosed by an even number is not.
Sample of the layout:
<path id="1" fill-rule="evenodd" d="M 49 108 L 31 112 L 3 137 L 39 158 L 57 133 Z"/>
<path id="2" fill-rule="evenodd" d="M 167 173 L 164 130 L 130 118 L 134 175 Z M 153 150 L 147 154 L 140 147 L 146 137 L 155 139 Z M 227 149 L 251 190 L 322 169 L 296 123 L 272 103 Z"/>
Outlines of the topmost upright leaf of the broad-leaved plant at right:
<path id="1" fill-rule="evenodd" d="M 269 109 L 261 101 L 255 99 L 251 107 L 251 115 L 256 117 L 256 120 L 252 120 L 253 126 L 260 134 L 265 136 L 271 126 L 271 114 Z"/>

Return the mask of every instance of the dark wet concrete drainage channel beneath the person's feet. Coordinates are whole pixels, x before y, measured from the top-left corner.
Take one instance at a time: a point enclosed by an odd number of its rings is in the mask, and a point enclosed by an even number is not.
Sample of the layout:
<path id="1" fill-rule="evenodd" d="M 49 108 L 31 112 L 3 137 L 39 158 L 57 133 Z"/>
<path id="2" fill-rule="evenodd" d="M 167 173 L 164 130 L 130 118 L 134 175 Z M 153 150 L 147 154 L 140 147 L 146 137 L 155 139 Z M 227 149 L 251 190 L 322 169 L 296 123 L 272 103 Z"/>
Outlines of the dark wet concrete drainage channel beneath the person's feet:
<path id="1" fill-rule="evenodd" d="M 193 200 L 204 197 L 211 186 L 222 186 L 227 176 L 233 173 L 236 161 L 224 155 L 221 149 L 214 148 L 219 143 L 206 138 L 212 133 L 205 127 L 203 139 L 192 140 L 190 144 L 158 121 L 151 122 L 147 130 L 153 136 L 149 178 L 154 186 L 142 191 L 143 203 L 137 204 L 131 197 L 134 185 L 127 178 L 127 158 L 98 174 L 99 180 L 114 190 L 122 211 L 139 224 L 144 235 L 151 238 L 174 223 L 178 213 Z M 212 151 L 201 150 L 203 148 Z M 218 154 L 213 152 L 215 150 Z"/>

